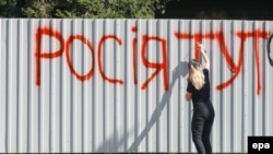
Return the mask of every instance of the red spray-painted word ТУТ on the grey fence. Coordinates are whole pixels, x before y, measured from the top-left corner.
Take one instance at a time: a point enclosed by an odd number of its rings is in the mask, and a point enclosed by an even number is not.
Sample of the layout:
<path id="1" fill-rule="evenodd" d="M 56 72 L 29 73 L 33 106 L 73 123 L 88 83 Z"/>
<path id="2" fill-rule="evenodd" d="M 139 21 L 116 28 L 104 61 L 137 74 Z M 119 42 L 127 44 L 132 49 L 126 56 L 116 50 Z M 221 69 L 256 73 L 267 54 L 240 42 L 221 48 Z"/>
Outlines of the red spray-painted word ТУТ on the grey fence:
<path id="1" fill-rule="evenodd" d="M 223 57 L 227 63 L 228 69 L 234 73 L 233 76 L 224 83 L 221 83 L 216 86 L 217 90 L 223 90 L 229 86 L 236 78 L 238 78 L 242 62 L 244 62 L 244 47 L 247 38 L 252 37 L 254 39 L 254 57 L 256 57 L 256 69 L 257 69 L 257 94 L 260 95 L 261 93 L 261 68 L 260 68 L 260 57 L 259 57 L 259 39 L 269 38 L 269 32 L 262 32 L 256 29 L 253 32 L 237 32 L 236 35 L 240 38 L 240 47 L 239 47 L 239 60 L 238 64 L 236 64 L 230 56 L 230 51 L 226 46 L 225 36 L 222 32 L 216 33 L 207 33 L 207 34 L 187 34 L 187 33 L 175 33 L 175 36 L 179 39 L 194 39 L 197 43 L 201 43 L 203 39 L 216 39 Z M 199 51 L 194 51 L 195 59 L 199 59 Z"/>

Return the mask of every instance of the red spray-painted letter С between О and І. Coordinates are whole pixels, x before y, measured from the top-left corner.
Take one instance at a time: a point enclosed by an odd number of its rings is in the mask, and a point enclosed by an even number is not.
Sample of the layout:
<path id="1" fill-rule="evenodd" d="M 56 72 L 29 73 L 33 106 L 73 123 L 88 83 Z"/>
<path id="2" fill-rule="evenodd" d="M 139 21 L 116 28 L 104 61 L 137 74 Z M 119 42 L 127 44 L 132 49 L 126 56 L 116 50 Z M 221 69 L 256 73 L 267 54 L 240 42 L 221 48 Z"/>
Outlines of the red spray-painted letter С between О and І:
<path id="1" fill-rule="evenodd" d="M 122 80 L 117 80 L 117 79 L 110 79 L 108 76 L 106 76 L 104 70 L 103 70 L 103 62 L 102 62 L 102 52 L 103 52 L 103 46 L 104 43 L 106 42 L 106 39 L 115 39 L 119 45 L 122 44 L 121 39 L 119 39 L 117 36 L 115 35 L 106 35 L 103 36 L 99 40 L 99 45 L 98 45 L 98 70 L 99 73 L 102 74 L 103 79 L 106 81 L 109 81 L 110 83 L 119 83 L 119 84 L 123 84 Z"/>

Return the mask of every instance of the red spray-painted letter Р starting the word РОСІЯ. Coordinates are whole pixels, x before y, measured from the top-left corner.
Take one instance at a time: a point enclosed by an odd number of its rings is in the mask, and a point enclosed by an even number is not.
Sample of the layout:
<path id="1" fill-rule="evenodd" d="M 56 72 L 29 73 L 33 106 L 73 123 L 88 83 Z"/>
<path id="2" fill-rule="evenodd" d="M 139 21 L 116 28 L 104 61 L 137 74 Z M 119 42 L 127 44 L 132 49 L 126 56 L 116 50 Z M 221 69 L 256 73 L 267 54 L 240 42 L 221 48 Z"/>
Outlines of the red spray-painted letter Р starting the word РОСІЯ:
<path id="1" fill-rule="evenodd" d="M 41 52 L 41 43 L 43 43 L 43 36 L 48 35 L 50 37 L 54 37 L 59 40 L 60 43 L 60 49 L 55 52 Z M 35 35 L 36 38 L 36 51 L 35 51 L 35 58 L 36 58 L 36 85 L 40 85 L 40 59 L 52 59 L 60 57 L 62 52 L 64 51 L 64 39 L 62 38 L 61 34 L 59 32 L 56 32 L 51 28 L 44 27 L 38 28 Z"/>

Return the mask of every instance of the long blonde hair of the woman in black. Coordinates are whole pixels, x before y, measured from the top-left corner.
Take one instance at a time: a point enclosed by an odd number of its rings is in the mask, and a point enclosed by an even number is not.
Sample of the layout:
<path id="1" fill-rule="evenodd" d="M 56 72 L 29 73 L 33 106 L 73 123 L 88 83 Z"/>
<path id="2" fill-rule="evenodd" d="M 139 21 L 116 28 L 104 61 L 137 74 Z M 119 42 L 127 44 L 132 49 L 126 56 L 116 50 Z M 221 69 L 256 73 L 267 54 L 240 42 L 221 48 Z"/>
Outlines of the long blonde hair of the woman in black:
<path id="1" fill-rule="evenodd" d="M 201 63 L 198 62 L 197 60 L 191 60 L 188 67 L 189 67 L 188 80 L 192 83 L 192 85 L 197 90 L 202 88 L 203 85 L 205 84 L 205 81 L 204 81 L 204 73 L 202 71 Z"/>

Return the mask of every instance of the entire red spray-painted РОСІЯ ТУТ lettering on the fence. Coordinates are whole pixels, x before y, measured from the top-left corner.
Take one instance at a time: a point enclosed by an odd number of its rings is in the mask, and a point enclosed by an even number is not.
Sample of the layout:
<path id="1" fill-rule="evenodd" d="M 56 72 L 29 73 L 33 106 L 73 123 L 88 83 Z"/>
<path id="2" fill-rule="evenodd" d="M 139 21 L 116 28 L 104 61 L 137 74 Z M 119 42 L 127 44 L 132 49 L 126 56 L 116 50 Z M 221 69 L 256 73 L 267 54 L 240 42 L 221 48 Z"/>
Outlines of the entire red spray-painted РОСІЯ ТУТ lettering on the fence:
<path id="1" fill-rule="evenodd" d="M 138 33 L 138 28 L 136 27 L 132 27 L 132 33 Z M 41 44 L 43 44 L 43 37 L 44 36 L 49 36 L 52 38 L 56 38 L 59 43 L 60 43 L 60 49 L 52 51 L 52 52 L 44 52 L 41 51 Z M 228 69 L 233 72 L 233 76 L 225 81 L 224 83 L 221 83 L 216 86 L 216 90 L 224 90 L 226 87 L 228 87 L 230 84 L 233 84 L 233 82 L 236 80 L 236 78 L 238 78 L 239 73 L 241 72 L 241 67 L 242 67 L 242 62 L 244 62 L 244 51 L 245 51 L 245 43 L 247 40 L 247 38 L 253 38 L 254 39 L 254 60 L 256 60 L 256 70 L 257 70 L 257 94 L 260 95 L 261 93 L 261 68 L 260 68 L 260 57 L 259 57 L 259 39 L 268 39 L 270 34 L 269 32 L 263 32 L 260 29 L 256 29 L 252 32 L 237 32 L 236 36 L 240 39 L 240 47 L 239 47 L 239 59 L 238 62 L 236 63 L 232 56 L 230 56 L 230 51 L 226 45 L 226 40 L 225 40 L 225 36 L 224 33 L 222 32 L 211 32 L 211 33 L 206 33 L 206 34 L 201 34 L 201 33 L 195 33 L 195 34 L 189 34 L 189 33 L 181 33 L 181 32 L 175 32 L 175 37 L 177 37 L 178 39 L 193 39 L 195 43 L 201 43 L 203 39 L 212 39 L 212 40 L 216 40 L 216 43 L 219 46 L 221 52 L 225 59 L 225 62 L 228 67 Z M 92 67 L 90 69 L 90 71 L 87 72 L 87 74 L 80 74 L 76 72 L 76 70 L 73 68 L 73 63 L 70 60 L 70 46 L 72 45 L 72 43 L 74 40 L 80 40 L 82 42 L 84 45 L 86 45 L 88 47 L 88 50 L 92 54 Z M 67 64 L 71 71 L 71 73 L 73 75 L 75 75 L 75 78 L 80 81 L 85 81 L 85 80 L 90 80 L 92 79 L 93 74 L 94 74 L 94 68 L 95 68 L 95 60 L 98 60 L 98 70 L 99 70 L 99 74 L 100 76 L 104 79 L 104 81 L 107 81 L 109 83 L 114 83 L 114 84 L 123 84 L 124 81 L 121 79 L 112 79 L 110 76 L 108 76 L 105 71 L 104 71 L 104 67 L 103 67 L 103 46 L 104 44 L 108 40 L 108 39 L 112 39 L 115 40 L 119 46 L 122 46 L 122 39 L 119 38 L 116 35 L 105 35 L 103 36 L 99 42 L 98 42 L 98 50 L 97 50 L 97 55 L 98 58 L 95 58 L 95 50 L 93 49 L 92 43 L 85 38 L 82 35 L 72 35 L 70 36 L 67 40 L 63 38 L 63 36 L 56 29 L 51 28 L 51 27 L 40 27 L 37 29 L 36 32 L 36 51 L 35 51 L 35 58 L 36 58 L 36 85 L 40 85 L 40 62 L 41 59 L 54 59 L 54 58 L 58 58 L 61 57 L 63 52 L 66 52 L 66 59 L 67 59 Z M 149 43 L 151 42 L 156 42 L 161 45 L 161 56 L 162 56 L 162 61 L 161 62 L 153 62 L 150 61 L 146 57 L 147 55 L 147 46 Z M 141 59 L 142 59 L 142 64 L 146 68 L 146 69 L 153 69 L 154 72 L 152 73 L 151 76 L 149 76 L 146 79 L 146 81 L 144 81 L 142 83 L 141 88 L 145 90 L 149 85 L 150 82 L 152 82 L 157 75 L 159 75 L 159 73 L 163 73 L 163 84 L 164 84 L 164 88 L 165 91 L 168 90 L 168 51 L 167 51 L 167 40 L 165 38 L 158 37 L 158 36 L 151 36 L 151 35 L 142 35 L 141 40 L 138 40 L 138 38 L 133 38 L 132 39 L 132 52 L 133 52 L 133 63 L 132 63 L 132 69 L 133 69 L 133 83 L 138 84 L 138 72 L 136 72 L 136 46 L 138 44 L 141 43 Z M 195 50 L 194 51 L 194 57 L 197 59 L 200 58 L 199 51 Z"/>

